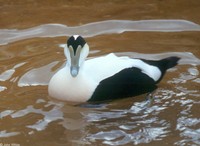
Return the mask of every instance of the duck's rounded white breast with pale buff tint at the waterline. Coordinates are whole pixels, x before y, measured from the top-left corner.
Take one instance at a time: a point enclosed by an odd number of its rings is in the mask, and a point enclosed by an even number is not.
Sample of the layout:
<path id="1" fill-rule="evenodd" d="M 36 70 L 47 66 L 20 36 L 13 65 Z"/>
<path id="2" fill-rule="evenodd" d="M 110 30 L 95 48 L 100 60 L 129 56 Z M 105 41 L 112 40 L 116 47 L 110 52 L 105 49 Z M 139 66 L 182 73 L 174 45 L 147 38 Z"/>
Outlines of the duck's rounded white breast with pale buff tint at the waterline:
<path id="1" fill-rule="evenodd" d="M 49 82 L 49 95 L 59 100 L 71 102 L 86 102 L 94 92 L 96 83 L 79 73 L 76 78 L 71 77 L 65 66 L 59 70 Z"/>

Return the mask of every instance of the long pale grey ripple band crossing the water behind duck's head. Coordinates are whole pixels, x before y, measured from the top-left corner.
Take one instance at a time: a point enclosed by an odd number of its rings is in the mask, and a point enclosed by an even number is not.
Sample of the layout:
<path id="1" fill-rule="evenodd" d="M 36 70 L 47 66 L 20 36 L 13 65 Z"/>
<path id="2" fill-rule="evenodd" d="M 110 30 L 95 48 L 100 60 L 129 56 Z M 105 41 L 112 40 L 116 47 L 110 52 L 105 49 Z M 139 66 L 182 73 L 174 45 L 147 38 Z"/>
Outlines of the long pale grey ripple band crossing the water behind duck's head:
<path id="1" fill-rule="evenodd" d="M 0 29 L 0 45 L 35 37 L 71 36 L 74 34 L 93 37 L 126 31 L 200 31 L 200 25 L 187 20 L 107 20 L 73 27 L 62 24 L 44 24 L 23 30 Z"/>

